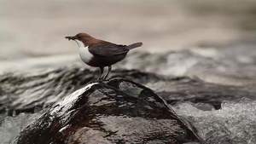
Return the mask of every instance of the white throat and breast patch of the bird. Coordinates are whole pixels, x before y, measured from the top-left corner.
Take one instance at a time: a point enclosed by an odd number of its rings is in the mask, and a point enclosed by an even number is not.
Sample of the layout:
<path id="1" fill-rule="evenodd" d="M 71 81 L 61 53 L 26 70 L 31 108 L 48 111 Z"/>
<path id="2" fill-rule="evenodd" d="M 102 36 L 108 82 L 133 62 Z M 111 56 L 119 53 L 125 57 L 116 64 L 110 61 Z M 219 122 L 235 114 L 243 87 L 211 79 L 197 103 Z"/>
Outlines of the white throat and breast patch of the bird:
<path id="1" fill-rule="evenodd" d="M 80 58 L 85 62 L 85 63 L 88 63 L 93 55 L 90 54 L 90 51 L 88 49 L 88 46 L 87 47 L 84 47 L 84 43 L 75 39 L 75 42 L 78 43 L 79 45 L 79 55 L 80 55 Z"/>

